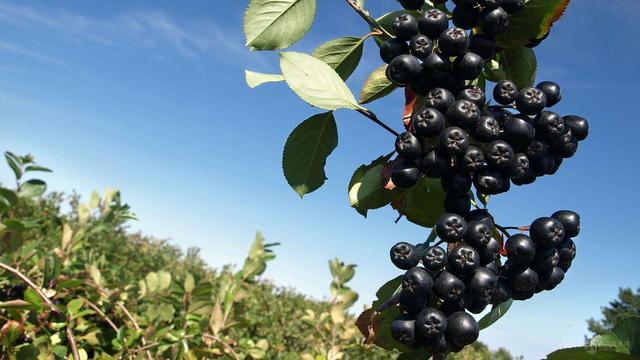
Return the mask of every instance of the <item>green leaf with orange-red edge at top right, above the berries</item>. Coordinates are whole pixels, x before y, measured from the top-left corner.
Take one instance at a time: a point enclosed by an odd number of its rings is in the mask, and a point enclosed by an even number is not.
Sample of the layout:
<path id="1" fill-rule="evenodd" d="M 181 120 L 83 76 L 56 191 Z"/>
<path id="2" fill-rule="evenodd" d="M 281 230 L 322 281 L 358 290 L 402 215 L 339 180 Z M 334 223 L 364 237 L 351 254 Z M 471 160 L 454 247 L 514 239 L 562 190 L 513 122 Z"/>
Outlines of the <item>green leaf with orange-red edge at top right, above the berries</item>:
<path id="1" fill-rule="evenodd" d="M 496 37 L 497 45 L 511 48 L 543 39 L 568 5 L 569 0 L 529 0 L 524 9 L 509 17 L 509 31 Z"/>

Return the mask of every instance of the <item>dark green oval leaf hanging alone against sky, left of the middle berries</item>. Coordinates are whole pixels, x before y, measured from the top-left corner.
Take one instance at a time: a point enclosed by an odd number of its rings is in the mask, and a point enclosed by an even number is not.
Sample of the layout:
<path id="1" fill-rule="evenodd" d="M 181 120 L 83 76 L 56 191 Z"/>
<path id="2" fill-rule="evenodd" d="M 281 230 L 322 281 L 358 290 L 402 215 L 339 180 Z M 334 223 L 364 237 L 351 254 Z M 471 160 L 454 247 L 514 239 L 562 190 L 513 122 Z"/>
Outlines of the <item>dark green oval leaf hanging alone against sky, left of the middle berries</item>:
<path id="1" fill-rule="evenodd" d="M 300 197 L 324 184 L 324 166 L 336 146 L 338 128 L 332 112 L 314 115 L 291 132 L 284 146 L 282 169 Z"/>

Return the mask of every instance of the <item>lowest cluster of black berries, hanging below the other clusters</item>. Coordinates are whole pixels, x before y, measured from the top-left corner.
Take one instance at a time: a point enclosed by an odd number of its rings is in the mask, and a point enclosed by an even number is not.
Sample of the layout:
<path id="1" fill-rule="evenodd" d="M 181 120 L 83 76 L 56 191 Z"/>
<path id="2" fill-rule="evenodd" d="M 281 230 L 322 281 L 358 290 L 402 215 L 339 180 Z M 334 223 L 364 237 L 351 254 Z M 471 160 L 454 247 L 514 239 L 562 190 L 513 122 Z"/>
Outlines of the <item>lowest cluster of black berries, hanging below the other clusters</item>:
<path id="1" fill-rule="evenodd" d="M 447 213 L 436 232 L 448 250 L 406 242 L 391 248 L 393 264 L 406 270 L 398 296 L 402 314 L 391 325 L 394 339 L 430 354 L 458 352 L 472 344 L 480 328 L 467 311 L 479 314 L 490 304 L 529 299 L 563 280 L 575 257 L 571 238 L 580 231 L 580 217 L 558 211 L 535 220 L 530 236 L 507 240 L 504 265 L 494 228 L 486 210 L 465 217 Z"/>

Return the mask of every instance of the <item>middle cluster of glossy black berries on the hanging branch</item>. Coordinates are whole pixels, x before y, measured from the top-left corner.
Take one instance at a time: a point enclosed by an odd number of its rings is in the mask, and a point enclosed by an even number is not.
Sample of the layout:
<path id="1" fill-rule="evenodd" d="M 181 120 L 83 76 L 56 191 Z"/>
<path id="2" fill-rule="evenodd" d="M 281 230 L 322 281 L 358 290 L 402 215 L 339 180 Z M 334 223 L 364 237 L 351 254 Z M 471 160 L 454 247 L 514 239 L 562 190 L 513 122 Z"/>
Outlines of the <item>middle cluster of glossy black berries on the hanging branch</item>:
<path id="1" fill-rule="evenodd" d="M 502 80 L 493 97 L 519 113 L 485 108 L 485 93 L 477 87 L 463 89 L 457 98 L 444 88 L 431 90 L 413 113 L 409 130 L 396 139 L 400 159 L 391 172 L 393 183 L 410 188 L 423 175 L 441 178 L 447 203 L 468 204 L 472 185 L 481 194 L 495 195 L 508 191 L 511 183 L 531 184 L 555 174 L 589 134 L 584 118 L 545 110 L 561 99 L 556 83 L 518 91 L 512 81 Z M 464 210 L 448 211 L 464 215 Z"/>

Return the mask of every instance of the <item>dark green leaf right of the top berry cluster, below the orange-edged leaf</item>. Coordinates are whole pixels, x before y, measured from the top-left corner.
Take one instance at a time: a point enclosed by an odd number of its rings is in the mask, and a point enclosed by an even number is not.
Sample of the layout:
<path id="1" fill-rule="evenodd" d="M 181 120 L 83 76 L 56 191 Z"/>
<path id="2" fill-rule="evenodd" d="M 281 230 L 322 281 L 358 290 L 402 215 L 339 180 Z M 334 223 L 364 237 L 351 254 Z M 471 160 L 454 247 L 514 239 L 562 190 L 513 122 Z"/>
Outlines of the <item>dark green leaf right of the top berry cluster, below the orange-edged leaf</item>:
<path id="1" fill-rule="evenodd" d="M 489 62 L 484 76 L 489 81 L 513 80 L 518 89 L 532 86 L 536 80 L 538 62 L 532 49 L 524 46 L 505 49 Z"/>

